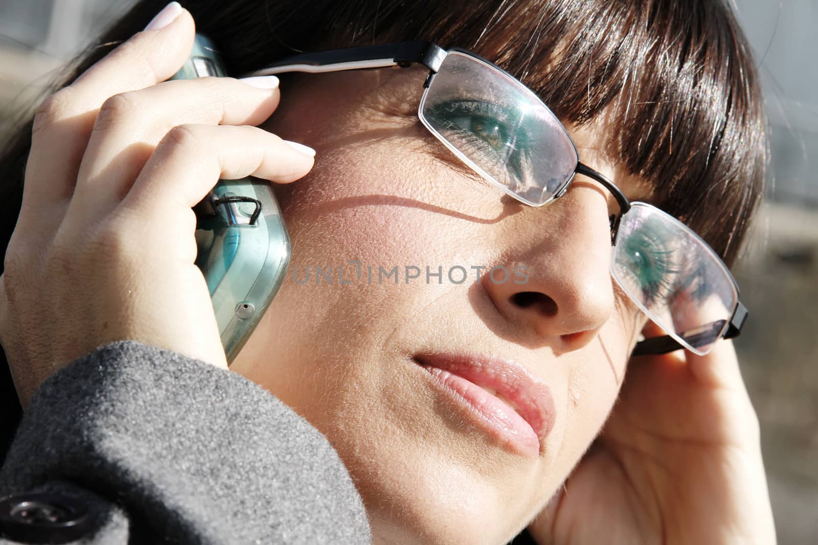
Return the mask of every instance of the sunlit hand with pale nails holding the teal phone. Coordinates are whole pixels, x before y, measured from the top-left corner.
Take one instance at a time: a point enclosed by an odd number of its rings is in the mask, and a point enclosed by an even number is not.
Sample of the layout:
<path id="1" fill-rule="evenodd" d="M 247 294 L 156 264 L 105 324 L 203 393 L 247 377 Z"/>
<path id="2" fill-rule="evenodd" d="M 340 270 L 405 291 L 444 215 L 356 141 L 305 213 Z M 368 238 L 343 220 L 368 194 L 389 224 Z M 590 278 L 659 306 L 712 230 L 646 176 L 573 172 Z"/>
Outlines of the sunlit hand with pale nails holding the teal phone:
<path id="1" fill-rule="evenodd" d="M 182 10 L 117 47 L 35 115 L 0 277 L 0 342 L 24 407 L 57 369 L 123 339 L 227 369 L 194 265 L 191 207 L 219 178 L 294 181 L 313 159 L 254 127 L 276 108 L 277 87 L 160 83 L 187 60 L 194 34 Z"/>

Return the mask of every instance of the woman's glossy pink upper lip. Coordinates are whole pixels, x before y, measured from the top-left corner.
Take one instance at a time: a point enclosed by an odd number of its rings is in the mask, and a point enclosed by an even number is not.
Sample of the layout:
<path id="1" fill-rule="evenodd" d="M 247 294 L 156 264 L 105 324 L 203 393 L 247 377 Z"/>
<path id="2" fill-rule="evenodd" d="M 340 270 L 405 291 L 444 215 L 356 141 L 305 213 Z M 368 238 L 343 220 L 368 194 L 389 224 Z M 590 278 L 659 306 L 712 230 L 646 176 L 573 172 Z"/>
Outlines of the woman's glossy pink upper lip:
<path id="1" fill-rule="evenodd" d="M 496 390 L 541 440 L 554 427 L 551 390 L 515 361 L 465 352 L 425 352 L 415 355 L 415 360 L 459 375 L 476 386 Z"/>

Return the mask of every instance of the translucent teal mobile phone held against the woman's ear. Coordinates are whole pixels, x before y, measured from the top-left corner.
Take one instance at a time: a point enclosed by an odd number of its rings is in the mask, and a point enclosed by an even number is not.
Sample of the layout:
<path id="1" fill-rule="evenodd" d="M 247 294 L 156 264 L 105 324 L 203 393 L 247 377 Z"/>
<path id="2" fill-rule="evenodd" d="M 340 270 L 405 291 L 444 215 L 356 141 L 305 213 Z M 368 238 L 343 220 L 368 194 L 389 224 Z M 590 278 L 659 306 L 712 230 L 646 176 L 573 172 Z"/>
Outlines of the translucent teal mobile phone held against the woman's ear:
<path id="1" fill-rule="evenodd" d="M 201 34 L 171 79 L 224 77 L 213 43 Z M 230 364 L 272 302 L 290 263 L 290 237 L 270 182 L 219 180 L 197 204 L 196 266 L 205 275 Z"/>

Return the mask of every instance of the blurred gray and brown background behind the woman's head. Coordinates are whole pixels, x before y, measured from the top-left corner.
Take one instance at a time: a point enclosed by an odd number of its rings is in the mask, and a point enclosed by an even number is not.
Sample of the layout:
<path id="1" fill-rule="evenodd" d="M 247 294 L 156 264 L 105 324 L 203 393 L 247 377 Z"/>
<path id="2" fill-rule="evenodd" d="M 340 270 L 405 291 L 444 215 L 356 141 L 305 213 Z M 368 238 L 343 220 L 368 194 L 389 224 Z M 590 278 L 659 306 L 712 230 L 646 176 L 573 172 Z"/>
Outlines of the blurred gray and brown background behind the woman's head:
<path id="1" fill-rule="evenodd" d="M 779 543 L 818 543 L 818 0 L 731 1 L 771 120 L 766 203 L 734 267 L 751 312 L 735 344 L 762 424 Z M 131 3 L 0 0 L 0 133 Z"/>

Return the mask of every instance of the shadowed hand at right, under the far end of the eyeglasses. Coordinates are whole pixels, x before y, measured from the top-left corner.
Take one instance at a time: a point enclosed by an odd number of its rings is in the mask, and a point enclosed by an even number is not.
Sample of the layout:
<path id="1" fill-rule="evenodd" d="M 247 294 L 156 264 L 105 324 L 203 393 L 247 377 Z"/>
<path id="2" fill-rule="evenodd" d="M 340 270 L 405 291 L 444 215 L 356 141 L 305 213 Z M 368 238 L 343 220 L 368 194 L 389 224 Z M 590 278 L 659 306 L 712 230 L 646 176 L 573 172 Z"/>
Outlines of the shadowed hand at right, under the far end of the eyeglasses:
<path id="1" fill-rule="evenodd" d="M 633 358 L 599 438 L 529 531 L 537 543 L 775 543 L 732 342 Z"/>

